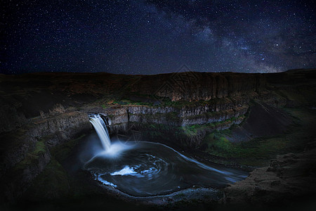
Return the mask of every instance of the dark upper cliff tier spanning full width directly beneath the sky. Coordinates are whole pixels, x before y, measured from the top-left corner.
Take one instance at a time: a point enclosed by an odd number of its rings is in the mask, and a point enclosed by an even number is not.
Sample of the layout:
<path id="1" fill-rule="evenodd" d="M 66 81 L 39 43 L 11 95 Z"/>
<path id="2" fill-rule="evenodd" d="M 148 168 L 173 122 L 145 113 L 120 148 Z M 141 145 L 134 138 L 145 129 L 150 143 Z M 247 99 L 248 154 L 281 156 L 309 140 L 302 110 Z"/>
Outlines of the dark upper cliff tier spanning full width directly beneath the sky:
<path id="1" fill-rule="evenodd" d="M 249 106 L 258 99 L 272 106 L 315 105 L 315 73 L 277 74 L 178 72 L 163 75 L 32 73 L 0 76 L 0 133 L 28 124 L 57 104 L 66 110 L 130 106 L 131 115 L 178 113 L 181 125 L 204 124 L 193 116 Z M 303 99 L 298 99 L 301 97 Z M 136 108 L 136 106 L 143 106 Z M 147 108 L 146 108 L 147 107 Z M 154 112 L 153 110 L 157 110 Z M 160 110 L 160 111 L 159 111 Z M 135 112 L 134 112 L 135 111 Z M 93 110 L 91 110 L 93 112 Z M 225 112 L 223 112 L 225 113 Z M 230 113 L 230 112 L 226 112 Z M 10 115 L 9 115 L 10 114 Z M 192 118 L 191 118 L 192 117 Z M 135 117 L 132 117 L 132 119 Z M 225 119 L 225 118 L 224 118 Z"/>

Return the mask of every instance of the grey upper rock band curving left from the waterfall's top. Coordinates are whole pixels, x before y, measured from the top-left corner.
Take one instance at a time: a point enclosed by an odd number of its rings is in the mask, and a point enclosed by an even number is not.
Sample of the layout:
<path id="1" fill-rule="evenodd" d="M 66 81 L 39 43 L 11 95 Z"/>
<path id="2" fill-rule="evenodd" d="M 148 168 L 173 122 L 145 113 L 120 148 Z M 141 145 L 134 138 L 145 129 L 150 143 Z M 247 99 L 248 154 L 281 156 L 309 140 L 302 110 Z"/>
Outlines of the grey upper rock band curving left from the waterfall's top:
<path id="1" fill-rule="evenodd" d="M 65 141 L 73 139 L 74 136 L 82 131 L 91 129 L 86 113 L 72 112 L 64 113 L 47 119 L 38 118 L 25 128 L 26 132 L 22 137 L 16 137 L 15 143 L 10 150 L 5 151 L 2 156 L 4 163 L 12 167 L 25 158 L 29 151 L 33 151 L 37 141 L 45 139 L 47 146 L 56 146 Z M 14 138 L 10 134 L 3 136 L 3 141 L 12 141 Z"/>

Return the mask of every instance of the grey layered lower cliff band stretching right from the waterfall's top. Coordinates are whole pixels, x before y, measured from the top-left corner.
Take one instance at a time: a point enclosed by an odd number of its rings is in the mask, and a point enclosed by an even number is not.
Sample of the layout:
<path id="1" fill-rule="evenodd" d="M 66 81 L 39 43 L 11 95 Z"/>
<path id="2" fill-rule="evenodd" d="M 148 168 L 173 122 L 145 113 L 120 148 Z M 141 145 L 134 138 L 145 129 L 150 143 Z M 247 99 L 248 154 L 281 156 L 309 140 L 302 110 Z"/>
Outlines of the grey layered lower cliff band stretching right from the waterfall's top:
<path id="1" fill-rule="evenodd" d="M 183 107 L 172 106 L 112 106 L 110 108 L 87 108 L 86 113 L 103 114 L 110 127 L 110 134 L 126 134 L 131 135 L 132 132 L 141 132 L 142 134 L 150 131 L 150 125 L 164 125 L 163 131 L 161 127 L 152 128 L 156 132 L 175 133 L 181 135 L 172 139 L 173 143 L 178 146 L 183 140 L 190 143 L 190 146 L 197 147 L 203 141 L 206 131 L 211 132 L 215 129 L 228 129 L 232 124 L 239 124 L 244 119 L 244 115 L 248 111 L 248 101 L 242 99 L 240 101 L 225 100 L 221 102 L 213 102 L 205 105 L 191 105 Z M 194 125 L 210 124 L 205 131 L 190 133 L 186 127 Z M 152 131 L 152 134 L 154 134 Z M 145 132 L 145 133 L 144 133 Z M 150 135 L 152 136 L 152 135 Z M 154 141 L 154 137 L 143 137 L 147 141 Z M 161 139 L 161 137 L 157 137 Z"/>

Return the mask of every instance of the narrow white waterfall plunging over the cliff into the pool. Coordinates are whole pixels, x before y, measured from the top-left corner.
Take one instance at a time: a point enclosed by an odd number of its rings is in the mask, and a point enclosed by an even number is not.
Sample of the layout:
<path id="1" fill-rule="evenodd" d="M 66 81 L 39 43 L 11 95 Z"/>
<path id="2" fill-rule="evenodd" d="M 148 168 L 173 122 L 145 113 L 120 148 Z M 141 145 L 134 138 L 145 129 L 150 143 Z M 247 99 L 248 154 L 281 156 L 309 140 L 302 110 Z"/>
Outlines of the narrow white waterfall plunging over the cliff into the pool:
<path id="1" fill-rule="evenodd" d="M 107 126 L 100 115 L 89 115 L 89 120 L 93 125 L 94 129 L 101 140 L 102 146 L 107 151 L 111 146 L 111 139 L 109 132 L 107 131 Z M 106 120 L 105 120 L 106 121 Z"/>

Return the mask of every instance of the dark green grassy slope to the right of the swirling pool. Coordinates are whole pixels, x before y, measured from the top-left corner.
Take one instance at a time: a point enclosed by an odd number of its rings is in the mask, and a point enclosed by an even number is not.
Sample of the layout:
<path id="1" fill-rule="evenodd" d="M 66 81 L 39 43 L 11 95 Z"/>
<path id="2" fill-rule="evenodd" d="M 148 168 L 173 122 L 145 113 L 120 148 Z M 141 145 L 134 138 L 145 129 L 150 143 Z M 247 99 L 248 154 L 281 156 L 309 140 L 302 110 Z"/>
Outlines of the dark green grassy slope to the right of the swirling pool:
<path id="1" fill-rule="evenodd" d="M 206 153 L 221 158 L 228 158 L 241 165 L 265 166 L 270 159 L 284 153 L 298 153 L 303 151 L 305 143 L 312 141 L 315 137 L 313 125 L 315 125 L 315 110 L 301 108 L 287 108 L 294 120 L 286 134 L 270 137 L 262 137 L 233 143 L 228 141 L 230 130 L 216 131 L 208 134 Z"/>

